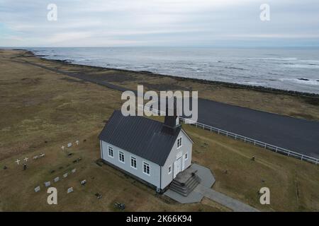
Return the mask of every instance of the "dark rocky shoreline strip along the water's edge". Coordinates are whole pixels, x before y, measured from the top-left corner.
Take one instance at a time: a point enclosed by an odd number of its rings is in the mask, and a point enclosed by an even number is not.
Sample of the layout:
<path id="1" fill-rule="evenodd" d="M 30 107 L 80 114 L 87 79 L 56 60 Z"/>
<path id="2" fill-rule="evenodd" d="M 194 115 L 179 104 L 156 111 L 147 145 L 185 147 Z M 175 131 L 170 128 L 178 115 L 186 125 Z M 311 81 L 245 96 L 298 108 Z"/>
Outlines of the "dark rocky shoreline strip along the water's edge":
<path id="1" fill-rule="evenodd" d="M 102 66 L 91 66 L 91 65 L 84 65 L 84 64 L 74 64 L 70 62 L 68 59 L 46 59 L 45 55 L 37 55 L 35 52 L 26 50 L 26 49 L 12 49 L 12 50 L 21 50 L 28 52 L 29 54 L 32 54 L 33 57 L 38 57 L 40 59 L 45 59 L 46 61 L 52 61 L 52 62 L 58 62 L 60 64 L 67 64 L 67 65 L 75 65 L 75 66 L 83 66 L 83 67 L 89 67 L 92 69 L 103 69 L 103 70 L 111 70 L 111 71 L 123 71 L 123 72 L 132 72 L 132 73 L 140 73 L 147 76 L 159 76 L 159 77 L 167 77 L 167 78 L 174 78 L 178 81 L 191 81 L 196 83 L 202 83 L 202 84 L 208 84 L 208 85 L 222 85 L 225 88 L 238 88 L 238 89 L 247 89 L 247 90 L 254 90 L 264 93 L 272 93 L 272 94 L 286 94 L 286 95 L 294 95 L 294 96 L 304 96 L 304 97 L 319 97 L 319 94 L 317 93 L 305 93 L 295 90 L 282 90 L 277 88 L 269 88 L 265 86 L 260 85 L 245 85 L 240 83 L 228 83 L 223 81 L 211 81 L 206 79 L 200 79 L 200 78 L 187 78 L 187 77 L 181 77 L 181 76 L 173 76 L 173 75 L 167 75 L 162 73 L 153 73 L 152 71 L 134 71 L 134 70 L 127 70 L 127 69 L 116 69 L 116 68 L 109 68 L 109 67 L 102 67 Z M 319 100 L 318 100 L 319 103 Z"/>

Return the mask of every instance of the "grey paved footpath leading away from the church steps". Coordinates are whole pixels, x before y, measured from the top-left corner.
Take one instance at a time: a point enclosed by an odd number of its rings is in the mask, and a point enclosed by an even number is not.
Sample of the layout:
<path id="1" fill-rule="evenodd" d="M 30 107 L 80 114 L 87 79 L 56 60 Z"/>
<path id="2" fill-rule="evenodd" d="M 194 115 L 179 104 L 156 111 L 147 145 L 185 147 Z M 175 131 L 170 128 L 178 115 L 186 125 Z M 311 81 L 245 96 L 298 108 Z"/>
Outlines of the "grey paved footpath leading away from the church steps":
<path id="1" fill-rule="evenodd" d="M 220 192 L 210 189 L 201 184 L 198 184 L 194 191 L 198 192 L 199 194 L 202 194 L 206 198 L 216 201 L 216 203 L 220 203 L 221 205 L 230 208 L 234 212 L 259 212 L 259 210 L 253 208 L 252 206 L 248 206 L 245 203 L 237 201 L 235 198 L 225 196 L 224 194 L 221 194 Z"/>

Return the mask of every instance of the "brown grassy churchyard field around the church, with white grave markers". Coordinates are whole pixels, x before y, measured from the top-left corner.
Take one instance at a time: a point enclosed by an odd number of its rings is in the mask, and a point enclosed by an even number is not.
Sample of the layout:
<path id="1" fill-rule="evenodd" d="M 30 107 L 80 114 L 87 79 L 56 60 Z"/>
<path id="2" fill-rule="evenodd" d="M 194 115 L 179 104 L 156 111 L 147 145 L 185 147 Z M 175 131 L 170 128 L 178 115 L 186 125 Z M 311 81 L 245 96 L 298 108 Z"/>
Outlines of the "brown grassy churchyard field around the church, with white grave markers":
<path id="1" fill-rule="evenodd" d="M 228 211 L 208 198 L 179 204 L 99 164 L 98 135 L 120 109 L 121 92 L 26 61 L 82 69 L 1 50 L 0 211 Z M 194 126 L 183 128 L 194 140 L 194 162 L 214 172 L 216 191 L 259 210 L 319 210 L 318 165 Z M 57 189 L 57 205 L 47 203 L 50 186 Z M 262 186 L 272 191 L 271 205 L 259 203 Z"/>

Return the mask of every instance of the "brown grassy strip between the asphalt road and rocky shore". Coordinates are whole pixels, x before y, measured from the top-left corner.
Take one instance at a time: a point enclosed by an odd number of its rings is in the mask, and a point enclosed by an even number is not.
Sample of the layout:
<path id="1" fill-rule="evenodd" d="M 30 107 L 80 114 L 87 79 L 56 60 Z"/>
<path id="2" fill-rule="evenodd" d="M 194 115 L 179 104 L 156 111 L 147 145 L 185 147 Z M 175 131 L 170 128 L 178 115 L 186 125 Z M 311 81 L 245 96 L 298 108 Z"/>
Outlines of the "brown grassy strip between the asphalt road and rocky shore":
<path id="1" fill-rule="evenodd" d="M 1 50 L 0 50 L 1 51 Z M 145 90 L 198 91 L 198 97 L 261 112 L 279 114 L 286 117 L 319 121 L 319 97 L 315 94 L 252 87 L 235 83 L 196 80 L 178 76 L 161 75 L 147 71 L 107 69 L 101 66 L 72 64 L 65 60 L 37 57 L 25 49 L 4 49 L 4 56 L 11 55 L 10 61 L 31 66 L 30 69 L 45 69 L 62 76 L 64 81 L 96 83 L 106 88 L 123 92 L 136 90 L 144 85 Z M 10 63 L 9 63 L 10 64 Z M 37 69 L 37 71 L 38 71 Z M 35 76 L 37 76 L 35 74 Z M 41 76 L 37 76 L 41 79 Z"/>

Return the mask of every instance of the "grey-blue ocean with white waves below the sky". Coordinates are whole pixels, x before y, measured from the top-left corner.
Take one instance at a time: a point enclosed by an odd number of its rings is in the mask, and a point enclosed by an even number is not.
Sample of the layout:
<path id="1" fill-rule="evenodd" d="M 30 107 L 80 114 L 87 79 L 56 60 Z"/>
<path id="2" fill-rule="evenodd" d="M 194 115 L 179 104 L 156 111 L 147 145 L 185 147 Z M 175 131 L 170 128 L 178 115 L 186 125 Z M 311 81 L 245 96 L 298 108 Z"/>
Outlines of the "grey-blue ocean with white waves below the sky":
<path id="1" fill-rule="evenodd" d="M 318 48 L 27 48 L 47 59 L 319 94 Z"/>

